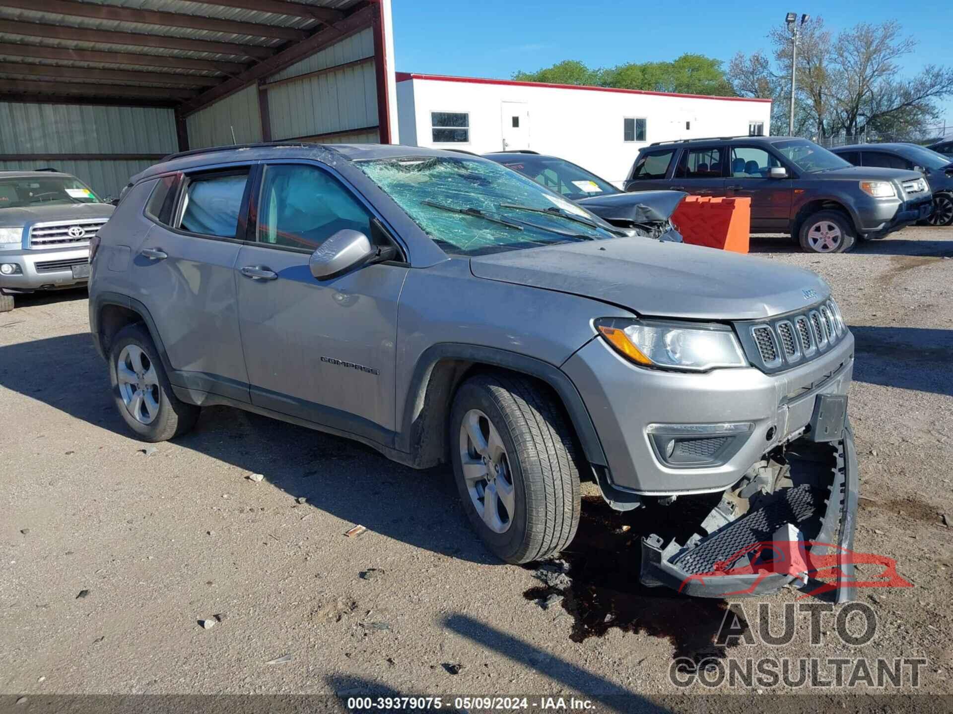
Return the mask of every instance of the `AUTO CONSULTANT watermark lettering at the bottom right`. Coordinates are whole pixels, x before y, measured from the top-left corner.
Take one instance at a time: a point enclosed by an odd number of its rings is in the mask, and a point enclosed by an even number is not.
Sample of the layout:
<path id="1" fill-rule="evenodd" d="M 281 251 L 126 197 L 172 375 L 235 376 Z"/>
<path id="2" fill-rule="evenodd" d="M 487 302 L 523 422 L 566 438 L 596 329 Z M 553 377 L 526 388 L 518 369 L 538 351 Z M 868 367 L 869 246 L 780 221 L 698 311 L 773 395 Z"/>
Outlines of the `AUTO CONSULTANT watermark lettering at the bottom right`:
<path id="1" fill-rule="evenodd" d="M 876 612 L 865 603 L 840 608 L 829 603 L 760 603 L 755 627 L 747 614 L 741 603 L 726 609 L 714 644 L 722 648 L 780 648 L 794 642 L 799 630 L 803 633 L 806 628 L 811 646 L 830 644 L 834 638 L 842 645 L 860 647 L 874 640 L 878 628 Z M 925 657 L 679 657 L 669 667 L 669 680 L 683 689 L 864 687 L 897 691 L 918 688 L 927 664 Z"/>

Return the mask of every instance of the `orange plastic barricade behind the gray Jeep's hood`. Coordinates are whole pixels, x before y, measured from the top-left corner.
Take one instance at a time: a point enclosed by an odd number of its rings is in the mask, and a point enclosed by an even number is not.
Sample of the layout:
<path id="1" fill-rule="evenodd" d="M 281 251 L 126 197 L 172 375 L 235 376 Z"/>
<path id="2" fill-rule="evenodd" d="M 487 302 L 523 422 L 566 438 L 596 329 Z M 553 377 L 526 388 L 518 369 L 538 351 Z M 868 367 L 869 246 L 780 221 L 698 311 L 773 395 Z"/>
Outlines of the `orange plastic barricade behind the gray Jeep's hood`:
<path id="1" fill-rule="evenodd" d="M 685 243 L 748 252 L 751 235 L 750 198 L 685 196 L 672 214 Z"/>

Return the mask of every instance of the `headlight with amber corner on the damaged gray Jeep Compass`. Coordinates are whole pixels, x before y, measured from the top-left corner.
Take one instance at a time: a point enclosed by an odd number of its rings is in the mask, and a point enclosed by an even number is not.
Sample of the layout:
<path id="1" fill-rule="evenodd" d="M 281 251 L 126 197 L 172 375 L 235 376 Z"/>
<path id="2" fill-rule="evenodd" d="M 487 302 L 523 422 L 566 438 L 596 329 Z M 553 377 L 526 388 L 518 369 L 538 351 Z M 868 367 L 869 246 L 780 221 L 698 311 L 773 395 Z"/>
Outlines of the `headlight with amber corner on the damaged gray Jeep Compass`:
<path id="1" fill-rule="evenodd" d="M 704 371 L 748 366 L 731 327 L 618 318 L 598 320 L 596 327 L 610 345 L 645 367 Z"/>

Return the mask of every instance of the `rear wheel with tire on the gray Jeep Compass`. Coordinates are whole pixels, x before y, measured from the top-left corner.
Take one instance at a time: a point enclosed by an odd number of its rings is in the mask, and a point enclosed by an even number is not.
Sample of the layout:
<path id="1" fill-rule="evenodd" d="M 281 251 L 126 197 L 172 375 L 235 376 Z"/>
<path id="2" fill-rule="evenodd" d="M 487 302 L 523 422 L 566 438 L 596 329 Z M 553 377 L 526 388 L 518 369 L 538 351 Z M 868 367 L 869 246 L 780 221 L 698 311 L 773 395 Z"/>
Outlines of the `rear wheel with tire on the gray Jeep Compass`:
<path id="1" fill-rule="evenodd" d="M 123 327 L 113 338 L 110 382 L 119 414 L 142 441 L 168 441 L 195 426 L 199 407 L 172 392 L 159 352 L 142 325 Z"/>

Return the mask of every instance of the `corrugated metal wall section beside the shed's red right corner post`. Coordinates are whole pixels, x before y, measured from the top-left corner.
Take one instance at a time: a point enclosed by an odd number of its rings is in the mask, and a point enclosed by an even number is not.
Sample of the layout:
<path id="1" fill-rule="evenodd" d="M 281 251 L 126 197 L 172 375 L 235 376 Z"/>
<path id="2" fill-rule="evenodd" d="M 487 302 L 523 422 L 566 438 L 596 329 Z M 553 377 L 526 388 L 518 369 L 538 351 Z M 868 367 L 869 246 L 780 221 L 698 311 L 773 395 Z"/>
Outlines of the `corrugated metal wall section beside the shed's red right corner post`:
<path id="1" fill-rule="evenodd" d="M 369 28 L 282 69 L 269 77 L 269 81 L 290 79 L 373 56 L 374 34 Z M 377 126 L 377 80 L 373 61 L 265 87 L 275 140 Z M 373 141 L 377 141 L 376 131 Z"/>

